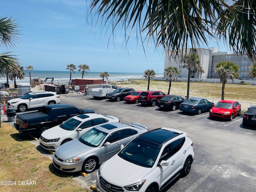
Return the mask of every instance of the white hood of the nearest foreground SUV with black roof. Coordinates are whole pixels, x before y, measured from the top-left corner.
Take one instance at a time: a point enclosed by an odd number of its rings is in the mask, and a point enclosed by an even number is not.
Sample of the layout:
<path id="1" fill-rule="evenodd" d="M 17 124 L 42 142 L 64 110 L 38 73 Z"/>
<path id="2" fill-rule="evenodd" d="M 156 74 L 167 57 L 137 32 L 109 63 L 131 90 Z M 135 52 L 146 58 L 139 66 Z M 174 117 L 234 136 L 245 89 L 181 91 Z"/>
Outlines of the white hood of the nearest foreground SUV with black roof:
<path id="1" fill-rule="evenodd" d="M 117 186 L 127 186 L 139 182 L 152 168 L 138 166 L 120 158 L 117 154 L 101 167 L 101 176 Z"/>

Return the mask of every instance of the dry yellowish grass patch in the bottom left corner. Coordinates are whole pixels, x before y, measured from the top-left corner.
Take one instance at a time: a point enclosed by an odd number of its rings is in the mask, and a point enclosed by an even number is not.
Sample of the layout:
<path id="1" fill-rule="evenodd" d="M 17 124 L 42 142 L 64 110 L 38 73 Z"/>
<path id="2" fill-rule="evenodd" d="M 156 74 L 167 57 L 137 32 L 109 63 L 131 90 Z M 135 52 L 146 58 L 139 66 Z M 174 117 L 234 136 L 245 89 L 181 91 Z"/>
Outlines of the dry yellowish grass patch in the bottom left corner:
<path id="1" fill-rule="evenodd" d="M 72 174 L 56 170 L 52 160 L 9 123 L 0 127 L 1 192 L 87 192 Z M 6 181 L 6 185 L 3 185 Z M 7 183 L 8 182 L 8 183 Z M 12 184 L 12 185 L 10 185 Z"/>

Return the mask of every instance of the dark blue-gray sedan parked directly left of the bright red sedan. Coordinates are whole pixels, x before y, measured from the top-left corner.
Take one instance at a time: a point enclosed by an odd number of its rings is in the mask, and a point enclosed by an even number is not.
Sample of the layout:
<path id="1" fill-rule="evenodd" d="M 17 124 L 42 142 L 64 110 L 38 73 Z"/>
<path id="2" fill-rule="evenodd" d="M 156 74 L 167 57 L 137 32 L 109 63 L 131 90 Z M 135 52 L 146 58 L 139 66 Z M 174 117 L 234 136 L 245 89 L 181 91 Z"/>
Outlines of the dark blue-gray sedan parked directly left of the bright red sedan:
<path id="1" fill-rule="evenodd" d="M 209 111 L 213 106 L 213 102 L 204 98 L 192 97 L 181 103 L 179 109 L 184 112 L 201 114 L 202 112 Z"/>

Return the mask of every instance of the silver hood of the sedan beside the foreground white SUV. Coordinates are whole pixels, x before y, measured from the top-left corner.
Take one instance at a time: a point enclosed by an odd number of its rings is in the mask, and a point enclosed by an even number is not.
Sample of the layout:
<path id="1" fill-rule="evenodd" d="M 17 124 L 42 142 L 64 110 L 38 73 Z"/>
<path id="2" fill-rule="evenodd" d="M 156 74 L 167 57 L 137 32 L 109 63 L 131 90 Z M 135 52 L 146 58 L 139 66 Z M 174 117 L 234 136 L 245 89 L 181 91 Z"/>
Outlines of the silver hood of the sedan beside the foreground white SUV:
<path id="1" fill-rule="evenodd" d="M 82 156 L 84 156 L 83 154 L 92 149 L 94 149 L 94 147 L 87 146 L 86 144 L 80 142 L 78 139 L 74 139 L 59 146 L 55 151 L 55 154 L 58 156 L 58 158 L 61 158 L 65 161 L 68 158 L 76 156 L 82 158 Z"/>

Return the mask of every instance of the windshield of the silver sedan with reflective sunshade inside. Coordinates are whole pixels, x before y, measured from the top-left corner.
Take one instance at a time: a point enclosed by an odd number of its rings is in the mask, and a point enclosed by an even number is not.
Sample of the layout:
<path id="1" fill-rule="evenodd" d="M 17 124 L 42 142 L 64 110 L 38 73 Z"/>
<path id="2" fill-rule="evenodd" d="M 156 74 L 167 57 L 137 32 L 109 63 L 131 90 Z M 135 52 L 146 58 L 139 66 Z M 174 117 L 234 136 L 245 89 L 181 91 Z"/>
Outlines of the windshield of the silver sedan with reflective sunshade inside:
<path id="1" fill-rule="evenodd" d="M 83 134 L 78 140 L 88 146 L 97 147 L 106 136 L 107 133 L 100 131 L 96 128 L 92 128 L 91 130 Z"/>

